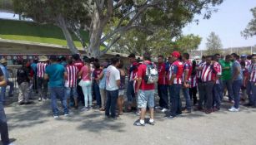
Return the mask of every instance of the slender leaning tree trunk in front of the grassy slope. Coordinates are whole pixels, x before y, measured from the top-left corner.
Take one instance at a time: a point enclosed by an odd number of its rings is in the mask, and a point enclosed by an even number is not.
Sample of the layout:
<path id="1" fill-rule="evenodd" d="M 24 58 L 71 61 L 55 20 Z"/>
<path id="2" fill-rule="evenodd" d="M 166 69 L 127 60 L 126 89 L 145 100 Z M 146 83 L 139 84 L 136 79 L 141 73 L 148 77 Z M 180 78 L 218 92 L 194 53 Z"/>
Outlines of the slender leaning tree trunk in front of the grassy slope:
<path id="1" fill-rule="evenodd" d="M 58 27 L 60 27 L 63 31 L 63 34 L 67 41 L 68 48 L 71 51 L 71 53 L 78 54 L 79 51 L 76 48 L 75 44 L 73 43 L 73 38 L 72 38 L 70 32 L 68 31 L 67 24 L 66 24 L 65 20 L 63 19 L 63 17 L 61 17 L 61 16 L 58 17 Z"/>

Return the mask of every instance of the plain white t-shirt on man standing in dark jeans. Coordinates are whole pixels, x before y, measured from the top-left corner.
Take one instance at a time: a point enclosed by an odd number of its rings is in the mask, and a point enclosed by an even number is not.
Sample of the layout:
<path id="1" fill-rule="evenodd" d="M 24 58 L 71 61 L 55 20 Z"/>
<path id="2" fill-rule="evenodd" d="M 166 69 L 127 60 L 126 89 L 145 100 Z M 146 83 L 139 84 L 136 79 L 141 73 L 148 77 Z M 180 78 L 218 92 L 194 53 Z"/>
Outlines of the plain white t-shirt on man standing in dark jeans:
<path id="1" fill-rule="evenodd" d="M 106 89 L 109 91 L 117 90 L 117 80 L 120 80 L 119 70 L 115 66 L 109 65 L 107 68 Z"/>

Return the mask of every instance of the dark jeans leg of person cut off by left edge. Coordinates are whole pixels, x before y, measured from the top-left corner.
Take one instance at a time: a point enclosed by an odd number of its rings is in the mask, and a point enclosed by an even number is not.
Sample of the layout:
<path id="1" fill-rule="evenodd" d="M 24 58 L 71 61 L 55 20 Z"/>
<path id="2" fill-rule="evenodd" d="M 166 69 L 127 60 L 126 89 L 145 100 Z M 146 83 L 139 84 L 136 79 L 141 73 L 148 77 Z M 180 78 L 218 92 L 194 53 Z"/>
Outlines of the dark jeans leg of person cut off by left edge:
<path id="1" fill-rule="evenodd" d="M 0 101 L 0 133 L 3 145 L 9 144 L 8 123 L 3 109 L 3 102 Z"/>

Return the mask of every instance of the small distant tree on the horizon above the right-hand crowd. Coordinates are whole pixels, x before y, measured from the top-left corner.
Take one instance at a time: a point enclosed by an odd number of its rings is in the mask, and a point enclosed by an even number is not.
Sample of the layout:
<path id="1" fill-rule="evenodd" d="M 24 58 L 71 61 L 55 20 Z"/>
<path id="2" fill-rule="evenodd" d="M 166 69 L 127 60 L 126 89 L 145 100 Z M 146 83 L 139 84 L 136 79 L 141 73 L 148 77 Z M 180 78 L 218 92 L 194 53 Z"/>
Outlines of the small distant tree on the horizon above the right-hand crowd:
<path id="1" fill-rule="evenodd" d="M 213 31 L 210 33 L 210 35 L 207 38 L 206 48 L 207 48 L 208 55 L 221 53 L 221 50 L 223 49 L 223 45 L 221 43 L 220 38 Z"/>

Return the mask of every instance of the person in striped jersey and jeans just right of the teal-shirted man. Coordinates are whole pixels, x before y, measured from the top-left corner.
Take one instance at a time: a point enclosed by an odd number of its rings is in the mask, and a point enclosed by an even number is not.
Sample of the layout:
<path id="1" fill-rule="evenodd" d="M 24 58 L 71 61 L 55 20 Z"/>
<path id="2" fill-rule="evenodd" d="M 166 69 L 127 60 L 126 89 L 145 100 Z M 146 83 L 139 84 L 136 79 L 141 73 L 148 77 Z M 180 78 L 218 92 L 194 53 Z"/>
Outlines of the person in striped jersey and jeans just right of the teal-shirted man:
<path id="1" fill-rule="evenodd" d="M 68 74 L 67 80 L 65 80 L 65 95 L 67 98 L 67 103 L 69 106 L 69 100 L 71 96 L 74 99 L 74 107 L 78 109 L 78 92 L 77 92 L 77 81 L 78 81 L 78 68 L 73 65 L 73 60 L 68 60 L 68 65 L 66 66 L 66 71 Z"/>

